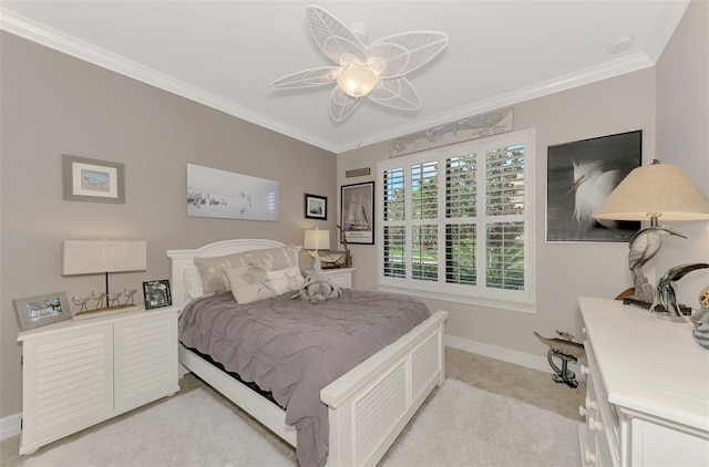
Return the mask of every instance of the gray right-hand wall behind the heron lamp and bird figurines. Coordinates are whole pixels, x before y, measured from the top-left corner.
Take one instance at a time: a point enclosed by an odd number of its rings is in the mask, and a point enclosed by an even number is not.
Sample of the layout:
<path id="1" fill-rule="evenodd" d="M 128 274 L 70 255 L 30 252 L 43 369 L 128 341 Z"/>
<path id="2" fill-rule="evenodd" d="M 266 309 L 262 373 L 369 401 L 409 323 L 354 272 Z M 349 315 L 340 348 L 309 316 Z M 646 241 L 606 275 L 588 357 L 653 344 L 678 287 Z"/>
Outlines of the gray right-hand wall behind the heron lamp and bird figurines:
<path id="1" fill-rule="evenodd" d="M 677 164 L 709 196 L 709 2 L 692 1 L 657 64 L 657 157 Z M 661 222 L 660 222 L 661 224 Z M 657 270 L 709 262 L 709 222 L 675 222 L 687 240 L 667 239 Z M 680 302 L 697 307 L 709 270 L 677 282 Z"/>

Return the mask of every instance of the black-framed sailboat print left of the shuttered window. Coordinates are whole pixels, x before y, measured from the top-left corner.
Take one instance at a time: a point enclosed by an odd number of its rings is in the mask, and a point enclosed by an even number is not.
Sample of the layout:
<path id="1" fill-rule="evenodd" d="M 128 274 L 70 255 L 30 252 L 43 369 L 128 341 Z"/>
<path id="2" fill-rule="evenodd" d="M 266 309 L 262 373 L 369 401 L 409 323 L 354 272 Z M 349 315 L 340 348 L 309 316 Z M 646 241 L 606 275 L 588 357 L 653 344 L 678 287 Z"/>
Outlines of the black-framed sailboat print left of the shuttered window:
<path id="1" fill-rule="evenodd" d="M 348 243 L 374 245 L 374 183 L 340 188 L 342 232 Z"/>

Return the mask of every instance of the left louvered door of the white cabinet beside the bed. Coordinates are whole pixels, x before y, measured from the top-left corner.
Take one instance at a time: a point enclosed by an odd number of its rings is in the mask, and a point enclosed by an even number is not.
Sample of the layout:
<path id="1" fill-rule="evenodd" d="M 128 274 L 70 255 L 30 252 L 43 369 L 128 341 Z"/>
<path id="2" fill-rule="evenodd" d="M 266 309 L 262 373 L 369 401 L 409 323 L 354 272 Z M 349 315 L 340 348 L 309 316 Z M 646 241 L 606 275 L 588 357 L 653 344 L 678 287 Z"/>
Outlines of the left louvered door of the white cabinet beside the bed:
<path id="1" fill-rule="evenodd" d="M 20 454 L 107 418 L 113 412 L 113 324 L 23 343 Z"/>

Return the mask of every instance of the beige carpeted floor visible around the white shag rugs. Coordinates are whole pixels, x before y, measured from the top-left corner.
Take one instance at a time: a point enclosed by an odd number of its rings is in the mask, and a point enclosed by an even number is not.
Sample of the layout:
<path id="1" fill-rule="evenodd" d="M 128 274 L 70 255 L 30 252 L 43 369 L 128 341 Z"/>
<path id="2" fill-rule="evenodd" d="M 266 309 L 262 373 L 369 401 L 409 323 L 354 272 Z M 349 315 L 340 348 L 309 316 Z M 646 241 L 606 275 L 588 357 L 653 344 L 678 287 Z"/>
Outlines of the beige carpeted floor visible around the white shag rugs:
<path id="1" fill-rule="evenodd" d="M 586 396 L 585 383 L 580 383 L 577 388 L 571 388 L 566 384 L 555 383 L 552 380 L 551 373 L 544 373 L 514 365 L 512 363 L 474 355 L 452 347 L 446 347 L 445 350 L 445 371 L 446 377 L 462 381 L 471 386 L 480 387 L 492 393 L 514 397 L 527 404 L 556 412 L 567 418 L 582 421 L 578 415 L 578 406 L 583 405 Z M 207 391 L 214 392 L 214 390 L 192 374 L 186 375 L 179 381 L 179 387 L 181 393 L 193 391 L 197 387 L 204 387 Z M 161 402 L 162 401 L 156 401 L 153 404 L 148 404 L 136 411 L 144 411 L 155 404 L 160 404 Z M 115 423 L 116 421 L 133 415 L 136 411 L 112 418 L 94 427 L 44 446 L 34 455 L 39 455 L 54 446 L 68 443 L 86 433 L 100 429 L 111 423 Z M 247 421 L 254 428 L 263 433 L 264 436 L 281 453 L 289 458 L 295 459 L 295 452 L 290 446 L 264 428 L 258 422 L 251 418 L 250 415 L 244 413 L 240 408 L 234 406 L 234 412 Z M 19 446 L 20 436 L 14 436 L 0 442 L 0 466 L 21 467 L 24 465 L 24 460 L 31 456 L 20 456 L 18 454 Z"/>

